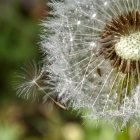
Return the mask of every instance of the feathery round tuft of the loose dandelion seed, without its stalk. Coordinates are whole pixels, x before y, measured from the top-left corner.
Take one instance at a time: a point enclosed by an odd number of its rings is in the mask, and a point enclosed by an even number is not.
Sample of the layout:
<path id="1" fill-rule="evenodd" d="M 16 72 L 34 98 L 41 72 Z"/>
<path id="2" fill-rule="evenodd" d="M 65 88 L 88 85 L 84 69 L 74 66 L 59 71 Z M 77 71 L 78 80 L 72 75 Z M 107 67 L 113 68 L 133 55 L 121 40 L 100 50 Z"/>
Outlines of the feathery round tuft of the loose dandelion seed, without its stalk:
<path id="1" fill-rule="evenodd" d="M 41 67 L 38 67 L 34 61 L 22 67 L 20 73 L 16 76 L 17 95 L 35 100 L 36 96 L 39 95 L 37 94 L 39 92 L 37 83 L 41 76 Z"/>

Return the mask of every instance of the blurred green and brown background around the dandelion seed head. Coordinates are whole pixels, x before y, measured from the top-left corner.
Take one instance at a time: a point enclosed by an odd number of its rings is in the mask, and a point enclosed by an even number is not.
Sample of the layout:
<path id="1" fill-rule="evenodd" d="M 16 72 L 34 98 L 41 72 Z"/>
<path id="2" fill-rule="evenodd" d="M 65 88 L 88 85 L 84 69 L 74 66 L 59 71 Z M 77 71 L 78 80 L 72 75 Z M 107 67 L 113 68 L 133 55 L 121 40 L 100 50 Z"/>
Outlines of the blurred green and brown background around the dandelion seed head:
<path id="1" fill-rule="evenodd" d="M 16 96 L 12 81 L 22 63 L 40 58 L 39 23 L 46 0 L 0 0 L 0 140 L 139 140 L 133 128 L 83 120 L 51 102 L 30 103 Z"/>

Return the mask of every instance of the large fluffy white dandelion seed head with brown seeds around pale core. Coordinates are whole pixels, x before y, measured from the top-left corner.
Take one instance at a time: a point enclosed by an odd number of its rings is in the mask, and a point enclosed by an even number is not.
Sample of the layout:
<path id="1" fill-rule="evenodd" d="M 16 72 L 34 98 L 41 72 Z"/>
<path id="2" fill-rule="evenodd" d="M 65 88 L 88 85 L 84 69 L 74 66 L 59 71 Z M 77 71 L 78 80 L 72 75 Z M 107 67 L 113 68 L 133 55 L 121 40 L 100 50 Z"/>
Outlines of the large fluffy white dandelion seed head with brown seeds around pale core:
<path id="1" fill-rule="evenodd" d="M 47 60 L 41 75 L 48 75 L 44 82 L 50 87 L 44 99 L 57 96 L 66 108 L 87 110 L 86 118 L 139 127 L 140 1 L 52 0 L 48 5 L 41 35 Z"/>

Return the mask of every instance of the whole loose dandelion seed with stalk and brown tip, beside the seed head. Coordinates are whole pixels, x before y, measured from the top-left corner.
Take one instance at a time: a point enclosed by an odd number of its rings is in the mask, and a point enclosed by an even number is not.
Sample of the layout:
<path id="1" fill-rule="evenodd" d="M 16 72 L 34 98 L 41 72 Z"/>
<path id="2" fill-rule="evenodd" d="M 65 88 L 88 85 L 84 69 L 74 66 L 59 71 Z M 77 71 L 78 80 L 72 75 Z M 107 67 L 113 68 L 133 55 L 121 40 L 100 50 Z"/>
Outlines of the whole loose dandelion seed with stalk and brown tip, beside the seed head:
<path id="1" fill-rule="evenodd" d="M 55 82 L 49 78 L 49 74 L 44 67 L 32 61 L 22 67 L 21 72 L 16 78 L 16 90 L 19 97 L 32 101 L 40 100 L 40 97 L 43 97 L 43 102 L 50 99 L 58 107 L 66 109 L 63 104 L 55 101 Z"/>

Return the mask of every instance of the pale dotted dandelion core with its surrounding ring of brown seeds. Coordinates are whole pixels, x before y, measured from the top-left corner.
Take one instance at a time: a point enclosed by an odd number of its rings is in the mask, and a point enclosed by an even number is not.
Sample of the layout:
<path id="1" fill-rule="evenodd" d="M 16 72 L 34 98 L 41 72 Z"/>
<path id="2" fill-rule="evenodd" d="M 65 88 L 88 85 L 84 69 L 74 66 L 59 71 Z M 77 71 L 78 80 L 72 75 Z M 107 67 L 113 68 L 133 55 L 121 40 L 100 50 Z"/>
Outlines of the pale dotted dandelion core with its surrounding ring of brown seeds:
<path id="1" fill-rule="evenodd" d="M 124 75 L 119 80 L 119 102 L 140 82 L 140 13 L 130 11 L 107 23 L 101 33 L 101 53 L 111 65 Z"/>

